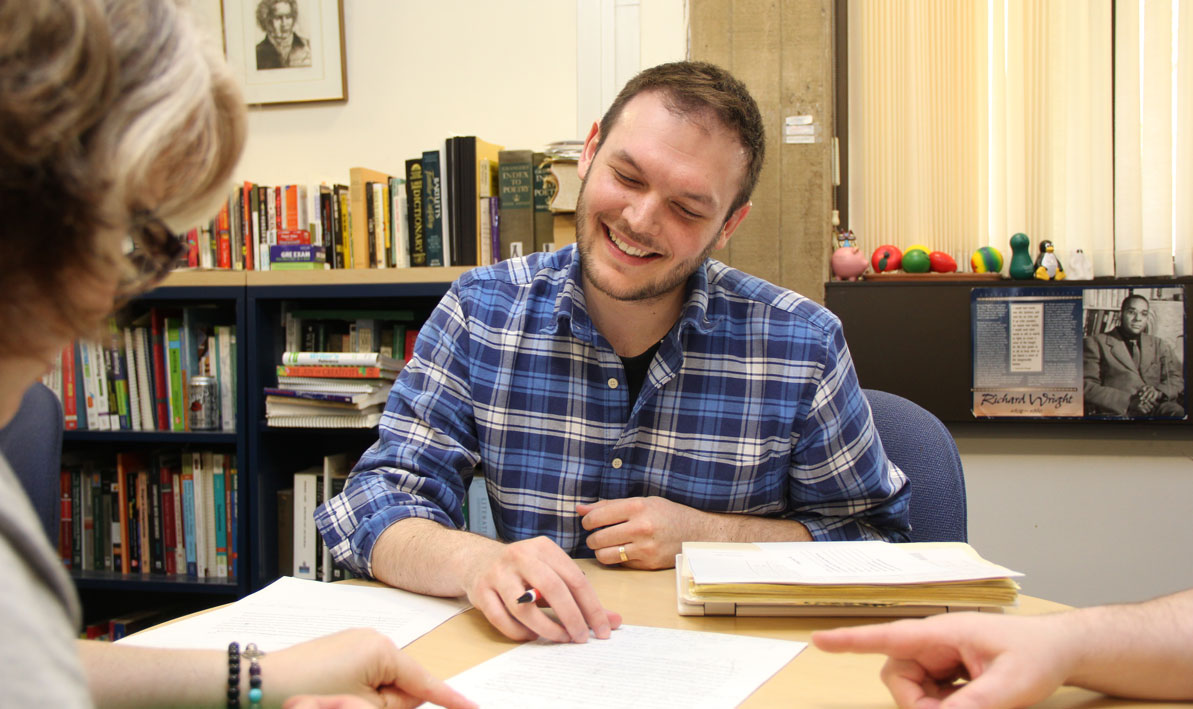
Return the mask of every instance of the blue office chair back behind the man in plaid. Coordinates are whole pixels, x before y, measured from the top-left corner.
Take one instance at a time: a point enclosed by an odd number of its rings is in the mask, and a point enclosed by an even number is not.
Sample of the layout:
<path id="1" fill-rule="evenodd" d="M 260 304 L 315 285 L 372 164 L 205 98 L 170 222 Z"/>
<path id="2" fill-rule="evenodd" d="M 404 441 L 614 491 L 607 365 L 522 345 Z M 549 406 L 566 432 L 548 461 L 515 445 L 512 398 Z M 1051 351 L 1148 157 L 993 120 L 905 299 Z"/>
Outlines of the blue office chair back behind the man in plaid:
<path id="1" fill-rule="evenodd" d="M 889 457 L 911 481 L 913 542 L 966 542 L 965 473 L 948 429 L 919 405 L 863 389 Z"/>

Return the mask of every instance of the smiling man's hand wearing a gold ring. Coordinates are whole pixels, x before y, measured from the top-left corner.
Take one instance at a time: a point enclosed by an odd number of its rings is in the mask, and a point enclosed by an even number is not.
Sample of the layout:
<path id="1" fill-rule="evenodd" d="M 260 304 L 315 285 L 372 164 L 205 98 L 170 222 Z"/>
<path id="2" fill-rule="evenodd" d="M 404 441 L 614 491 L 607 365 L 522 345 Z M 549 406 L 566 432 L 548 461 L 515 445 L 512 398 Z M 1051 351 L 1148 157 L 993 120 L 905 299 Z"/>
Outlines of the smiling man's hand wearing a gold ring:
<path id="1" fill-rule="evenodd" d="M 710 516 L 666 498 L 624 498 L 576 505 L 588 548 L 601 563 L 630 568 L 672 568 L 684 542 L 707 534 Z M 625 559 L 622 559 L 622 548 Z"/>

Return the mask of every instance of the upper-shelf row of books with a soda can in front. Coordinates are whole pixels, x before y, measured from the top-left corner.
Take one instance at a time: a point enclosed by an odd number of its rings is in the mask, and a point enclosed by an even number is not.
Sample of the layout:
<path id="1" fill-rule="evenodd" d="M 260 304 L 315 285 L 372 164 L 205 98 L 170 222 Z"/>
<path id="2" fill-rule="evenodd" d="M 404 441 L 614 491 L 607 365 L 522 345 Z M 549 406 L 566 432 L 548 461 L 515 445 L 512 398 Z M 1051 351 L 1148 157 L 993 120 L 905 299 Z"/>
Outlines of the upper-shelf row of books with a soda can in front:
<path id="1" fill-rule="evenodd" d="M 64 347 L 43 382 L 62 401 L 68 431 L 191 431 L 236 426 L 236 328 L 203 307 L 150 308 L 130 323 L 109 319 L 103 341 Z M 215 380 L 199 411 L 191 380 Z M 203 403 L 200 403 L 203 406 Z M 202 423 L 200 423 L 202 421 Z"/>

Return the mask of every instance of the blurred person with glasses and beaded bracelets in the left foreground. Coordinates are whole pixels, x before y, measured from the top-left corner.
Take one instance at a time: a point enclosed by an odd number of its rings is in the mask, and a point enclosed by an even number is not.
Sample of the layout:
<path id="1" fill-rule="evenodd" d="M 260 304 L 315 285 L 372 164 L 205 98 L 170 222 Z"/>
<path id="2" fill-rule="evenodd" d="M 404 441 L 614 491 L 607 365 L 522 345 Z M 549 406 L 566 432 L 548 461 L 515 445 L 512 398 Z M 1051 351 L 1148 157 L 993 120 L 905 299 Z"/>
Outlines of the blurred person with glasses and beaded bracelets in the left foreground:
<path id="1" fill-rule="evenodd" d="M 57 352 L 166 273 L 173 232 L 223 199 L 243 99 L 196 27 L 173 0 L 0 0 L 0 427 Z M 236 685 L 230 652 L 78 640 L 74 586 L 2 456 L 0 568 L 0 703 L 249 699 L 249 662 Z M 260 677 L 264 705 L 472 705 L 367 629 L 271 652 Z"/>

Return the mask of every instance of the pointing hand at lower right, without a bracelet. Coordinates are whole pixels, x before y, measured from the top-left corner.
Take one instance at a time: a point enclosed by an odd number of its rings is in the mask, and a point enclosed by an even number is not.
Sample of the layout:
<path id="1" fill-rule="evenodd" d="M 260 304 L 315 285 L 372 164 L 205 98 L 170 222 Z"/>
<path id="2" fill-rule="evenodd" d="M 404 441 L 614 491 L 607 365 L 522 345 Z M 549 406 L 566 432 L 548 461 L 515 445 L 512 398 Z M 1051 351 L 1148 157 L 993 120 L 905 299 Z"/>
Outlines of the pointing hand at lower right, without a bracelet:
<path id="1" fill-rule="evenodd" d="M 1063 616 L 948 614 L 822 630 L 812 643 L 890 655 L 882 678 L 900 707 L 1026 707 L 1051 695 L 1077 662 L 1080 643 L 1064 623 Z"/>

